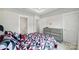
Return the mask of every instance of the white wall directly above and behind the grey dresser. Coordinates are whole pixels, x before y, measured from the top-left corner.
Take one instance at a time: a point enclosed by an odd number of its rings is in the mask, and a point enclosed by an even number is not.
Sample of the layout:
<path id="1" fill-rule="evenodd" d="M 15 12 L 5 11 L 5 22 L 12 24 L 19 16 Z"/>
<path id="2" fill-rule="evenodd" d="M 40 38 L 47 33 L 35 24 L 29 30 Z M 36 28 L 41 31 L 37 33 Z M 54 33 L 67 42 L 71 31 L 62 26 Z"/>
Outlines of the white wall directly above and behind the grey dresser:
<path id="1" fill-rule="evenodd" d="M 63 28 L 62 15 L 54 15 L 46 18 L 41 18 L 39 21 L 40 32 L 43 32 L 44 27 L 49 28 Z"/>

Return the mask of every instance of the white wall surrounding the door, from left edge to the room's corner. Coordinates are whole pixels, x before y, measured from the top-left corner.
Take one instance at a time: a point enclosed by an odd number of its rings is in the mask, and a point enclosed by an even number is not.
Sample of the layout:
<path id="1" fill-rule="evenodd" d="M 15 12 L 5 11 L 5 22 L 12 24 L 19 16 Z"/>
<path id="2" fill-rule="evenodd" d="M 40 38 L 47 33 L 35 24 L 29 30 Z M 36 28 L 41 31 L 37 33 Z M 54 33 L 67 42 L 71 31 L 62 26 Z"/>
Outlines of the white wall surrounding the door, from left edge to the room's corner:
<path id="1" fill-rule="evenodd" d="M 18 32 L 20 31 L 20 16 L 28 17 L 28 33 L 36 32 L 36 15 L 25 15 L 20 13 L 15 13 L 6 10 L 0 10 L 0 24 L 2 24 L 5 30 Z"/>

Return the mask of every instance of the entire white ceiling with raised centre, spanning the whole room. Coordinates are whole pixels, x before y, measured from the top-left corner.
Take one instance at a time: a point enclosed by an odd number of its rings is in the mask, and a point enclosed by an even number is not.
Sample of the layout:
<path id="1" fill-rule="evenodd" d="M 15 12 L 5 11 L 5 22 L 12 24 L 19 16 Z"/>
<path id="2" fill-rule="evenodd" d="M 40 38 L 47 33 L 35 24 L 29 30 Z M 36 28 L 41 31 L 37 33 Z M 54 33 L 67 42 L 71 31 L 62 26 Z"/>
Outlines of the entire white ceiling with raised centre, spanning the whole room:
<path id="1" fill-rule="evenodd" d="M 79 11 L 79 8 L 3 8 L 2 10 L 13 11 L 26 15 L 38 15 L 40 17 L 47 17 L 71 11 Z"/>

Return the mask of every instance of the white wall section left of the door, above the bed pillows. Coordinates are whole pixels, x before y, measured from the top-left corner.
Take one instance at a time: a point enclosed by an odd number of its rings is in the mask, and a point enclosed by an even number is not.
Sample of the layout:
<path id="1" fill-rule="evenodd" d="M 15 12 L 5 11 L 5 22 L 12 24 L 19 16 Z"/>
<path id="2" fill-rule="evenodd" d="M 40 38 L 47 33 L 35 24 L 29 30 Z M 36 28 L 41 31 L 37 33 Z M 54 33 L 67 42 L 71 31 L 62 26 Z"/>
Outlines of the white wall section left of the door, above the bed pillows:
<path id="1" fill-rule="evenodd" d="M 18 32 L 19 31 L 19 16 L 16 13 L 0 11 L 0 24 L 2 24 L 5 30 Z"/>

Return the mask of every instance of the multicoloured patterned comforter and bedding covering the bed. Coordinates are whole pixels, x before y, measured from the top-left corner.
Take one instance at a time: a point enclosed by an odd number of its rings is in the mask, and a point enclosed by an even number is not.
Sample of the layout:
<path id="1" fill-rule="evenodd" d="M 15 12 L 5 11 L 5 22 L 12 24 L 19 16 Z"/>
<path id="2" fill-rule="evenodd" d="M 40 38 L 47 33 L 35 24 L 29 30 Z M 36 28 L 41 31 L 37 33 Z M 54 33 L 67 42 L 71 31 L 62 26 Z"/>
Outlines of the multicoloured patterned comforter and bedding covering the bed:
<path id="1" fill-rule="evenodd" d="M 54 50 L 57 42 L 43 33 L 18 34 L 6 31 L 0 35 L 0 50 Z"/>

